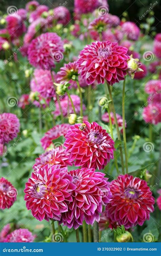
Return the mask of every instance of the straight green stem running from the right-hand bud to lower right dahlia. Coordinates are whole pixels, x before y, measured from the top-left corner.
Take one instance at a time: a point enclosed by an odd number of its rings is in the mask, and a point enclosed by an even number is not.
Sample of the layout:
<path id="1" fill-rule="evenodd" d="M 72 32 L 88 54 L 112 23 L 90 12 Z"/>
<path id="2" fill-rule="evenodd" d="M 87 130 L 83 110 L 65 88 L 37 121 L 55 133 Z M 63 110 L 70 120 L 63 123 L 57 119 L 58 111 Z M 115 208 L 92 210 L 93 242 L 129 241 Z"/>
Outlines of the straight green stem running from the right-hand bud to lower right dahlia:
<path id="1" fill-rule="evenodd" d="M 128 156 L 127 156 L 126 132 L 125 132 L 125 80 L 123 82 L 123 92 L 122 92 L 122 119 L 123 119 L 123 140 L 124 140 L 124 150 L 125 150 L 125 167 L 126 167 L 126 173 L 128 173 Z"/>

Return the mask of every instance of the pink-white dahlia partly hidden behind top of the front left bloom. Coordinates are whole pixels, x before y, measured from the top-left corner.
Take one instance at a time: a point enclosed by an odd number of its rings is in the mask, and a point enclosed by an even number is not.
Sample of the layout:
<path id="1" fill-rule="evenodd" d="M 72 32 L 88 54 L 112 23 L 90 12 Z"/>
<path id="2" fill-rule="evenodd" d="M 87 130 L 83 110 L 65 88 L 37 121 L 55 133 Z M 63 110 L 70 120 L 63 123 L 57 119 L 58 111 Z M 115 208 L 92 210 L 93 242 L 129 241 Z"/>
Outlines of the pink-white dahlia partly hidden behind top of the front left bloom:
<path id="1" fill-rule="evenodd" d="M 52 150 L 49 150 L 35 159 L 36 163 L 33 166 L 33 169 L 36 171 L 37 168 L 42 168 L 46 164 L 53 166 L 59 164 L 61 167 L 66 167 L 72 165 L 69 161 L 69 153 L 62 147 L 56 147 Z"/>

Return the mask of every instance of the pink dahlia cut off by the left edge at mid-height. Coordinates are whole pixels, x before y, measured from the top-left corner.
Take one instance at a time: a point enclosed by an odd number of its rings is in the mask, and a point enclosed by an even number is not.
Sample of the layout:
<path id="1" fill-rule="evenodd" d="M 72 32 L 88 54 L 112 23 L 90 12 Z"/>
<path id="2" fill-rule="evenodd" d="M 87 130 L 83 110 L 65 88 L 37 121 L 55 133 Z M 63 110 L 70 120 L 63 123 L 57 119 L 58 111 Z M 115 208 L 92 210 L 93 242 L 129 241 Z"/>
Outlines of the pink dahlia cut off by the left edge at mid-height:
<path id="1" fill-rule="evenodd" d="M 11 113 L 0 114 L 0 143 L 8 143 L 17 137 L 19 132 L 19 119 Z"/>

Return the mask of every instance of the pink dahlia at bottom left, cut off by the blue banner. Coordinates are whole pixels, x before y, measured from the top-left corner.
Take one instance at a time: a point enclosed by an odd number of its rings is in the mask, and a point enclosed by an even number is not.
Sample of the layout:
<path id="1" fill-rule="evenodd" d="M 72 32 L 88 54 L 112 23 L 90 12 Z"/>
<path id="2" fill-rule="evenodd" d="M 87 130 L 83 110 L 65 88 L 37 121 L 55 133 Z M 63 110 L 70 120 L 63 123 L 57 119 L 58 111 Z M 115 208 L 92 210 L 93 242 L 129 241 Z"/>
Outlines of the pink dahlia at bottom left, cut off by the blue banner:
<path id="1" fill-rule="evenodd" d="M 4 243 L 31 243 L 35 236 L 25 228 L 15 229 L 4 239 Z"/>

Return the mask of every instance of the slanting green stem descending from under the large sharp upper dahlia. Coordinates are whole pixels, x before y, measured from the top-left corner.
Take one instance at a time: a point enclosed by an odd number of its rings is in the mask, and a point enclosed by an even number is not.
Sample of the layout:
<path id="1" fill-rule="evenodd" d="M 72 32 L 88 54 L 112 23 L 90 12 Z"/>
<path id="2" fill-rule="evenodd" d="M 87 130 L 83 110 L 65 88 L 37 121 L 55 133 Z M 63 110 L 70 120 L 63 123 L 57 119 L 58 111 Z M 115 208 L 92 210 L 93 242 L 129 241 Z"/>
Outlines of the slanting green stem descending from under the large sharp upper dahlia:
<path id="1" fill-rule="evenodd" d="M 113 112 L 113 117 L 114 117 L 114 122 L 115 122 L 116 130 L 117 130 L 118 139 L 121 140 L 120 131 L 119 131 L 119 125 L 118 125 L 118 121 L 117 121 L 117 117 L 116 117 L 116 113 L 115 113 L 115 109 L 114 109 L 114 103 L 113 103 L 111 88 L 110 88 L 110 85 L 109 85 L 109 84 L 107 84 L 107 87 L 108 87 L 108 92 L 109 92 L 109 95 L 110 95 L 111 106 L 112 106 L 112 112 Z M 125 174 L 122 147 L 120 146 L 119 149 L 120 149 L 122 173 Z"/>

